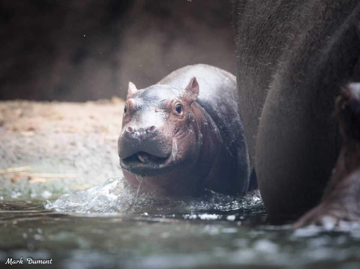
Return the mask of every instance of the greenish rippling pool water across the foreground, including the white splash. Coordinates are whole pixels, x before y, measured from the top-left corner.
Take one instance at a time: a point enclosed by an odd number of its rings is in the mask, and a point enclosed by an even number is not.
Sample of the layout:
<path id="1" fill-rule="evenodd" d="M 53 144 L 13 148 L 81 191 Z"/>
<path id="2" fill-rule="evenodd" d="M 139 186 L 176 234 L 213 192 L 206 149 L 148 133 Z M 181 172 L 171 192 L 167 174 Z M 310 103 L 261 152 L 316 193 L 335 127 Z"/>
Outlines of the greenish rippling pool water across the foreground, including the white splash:
<path id="1" fill-rule="evenodd" d="M 257 192 L 243 199 L 140 196 L 129 213 L 134 195 L 109 179 L 53 202 L 5 198 L 0 268 L 9 257 L 23 257 L 18 268 L 360 268 L 359 226 L 272 225 Z"/>

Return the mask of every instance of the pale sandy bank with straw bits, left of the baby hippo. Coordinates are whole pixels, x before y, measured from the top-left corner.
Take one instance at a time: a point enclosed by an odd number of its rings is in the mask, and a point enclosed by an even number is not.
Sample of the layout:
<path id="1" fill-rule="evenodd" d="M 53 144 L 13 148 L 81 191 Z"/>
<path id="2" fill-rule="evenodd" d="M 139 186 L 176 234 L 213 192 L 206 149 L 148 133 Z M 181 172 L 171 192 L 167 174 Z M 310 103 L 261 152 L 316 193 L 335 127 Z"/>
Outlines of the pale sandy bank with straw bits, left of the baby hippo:
<path id="1" fill-rule="evenodd" d="M 121 177 L 124 102 L 0 102 L 0 196 L 49 198 Z"/>

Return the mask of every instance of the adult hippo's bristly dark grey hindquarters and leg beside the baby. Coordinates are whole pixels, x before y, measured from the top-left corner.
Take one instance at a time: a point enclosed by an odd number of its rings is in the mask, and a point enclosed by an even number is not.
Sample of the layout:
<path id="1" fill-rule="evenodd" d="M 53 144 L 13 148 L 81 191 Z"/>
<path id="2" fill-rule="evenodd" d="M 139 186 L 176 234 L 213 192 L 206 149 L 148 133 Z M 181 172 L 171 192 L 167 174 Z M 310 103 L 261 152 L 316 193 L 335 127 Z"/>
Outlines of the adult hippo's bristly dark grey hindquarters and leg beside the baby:
<path id="1" fill-rule="evenodd" d="M 269 215 L 322 196 L 341 141 L 332 116 L 360 81 L 360 1 L 234 1 L 237 84 L 249 152 Z"/>

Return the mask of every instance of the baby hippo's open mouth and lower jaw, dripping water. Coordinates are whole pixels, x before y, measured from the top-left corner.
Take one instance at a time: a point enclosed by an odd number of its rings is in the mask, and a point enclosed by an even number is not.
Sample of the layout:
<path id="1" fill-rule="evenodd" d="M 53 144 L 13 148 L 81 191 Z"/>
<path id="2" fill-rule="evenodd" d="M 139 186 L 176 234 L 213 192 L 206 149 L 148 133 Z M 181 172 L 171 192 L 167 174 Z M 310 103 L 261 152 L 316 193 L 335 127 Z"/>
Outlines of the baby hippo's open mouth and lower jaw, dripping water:
<path id="1" fill-rule="evenodd" d="M 120 159 L 120 166 L 131 174 L 152 177 L 171 170 L 175 164 L 176 155 L 177 145 L 173 143 L 171 155 L 166 158 L 139 151 L 124 159 Z"/>

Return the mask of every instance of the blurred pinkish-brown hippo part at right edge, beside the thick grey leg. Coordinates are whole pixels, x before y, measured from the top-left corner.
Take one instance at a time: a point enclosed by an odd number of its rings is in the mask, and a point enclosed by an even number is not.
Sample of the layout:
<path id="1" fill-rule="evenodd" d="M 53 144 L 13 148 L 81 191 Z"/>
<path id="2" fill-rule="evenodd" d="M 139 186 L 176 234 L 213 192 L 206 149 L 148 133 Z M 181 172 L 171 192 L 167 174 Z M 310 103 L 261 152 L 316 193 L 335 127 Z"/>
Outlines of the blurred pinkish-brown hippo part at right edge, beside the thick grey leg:
<path id="1" fill-rule="evenodd" d="M 317 224 L 331 229 L 341 226 L 342 220 L 360 220 L 360 83 L 351 83 L 342 91 L 335 117 L 343 140 L 336 166 L 320 204 L 293 228 Z"/>

